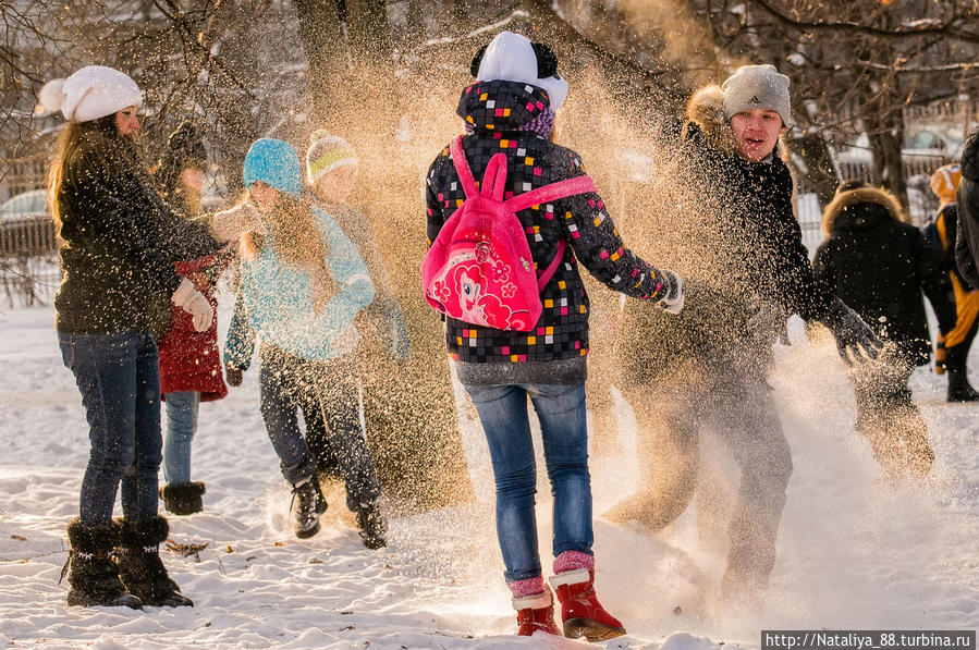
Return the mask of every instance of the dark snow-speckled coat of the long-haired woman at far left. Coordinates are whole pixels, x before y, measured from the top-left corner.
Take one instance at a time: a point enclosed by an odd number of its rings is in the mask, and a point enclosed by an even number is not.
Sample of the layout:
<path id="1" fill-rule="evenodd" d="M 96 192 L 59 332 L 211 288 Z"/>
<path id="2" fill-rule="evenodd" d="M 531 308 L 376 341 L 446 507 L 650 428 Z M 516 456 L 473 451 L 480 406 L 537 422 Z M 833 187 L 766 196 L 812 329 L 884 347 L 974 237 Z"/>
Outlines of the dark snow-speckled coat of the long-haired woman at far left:
<path id="1" fill-rule="evenodd" d="M 64 241 L 56 328 L 159 339 L 180 284 L 174 262 L 220 244 L 160 199 L 129 140 L 95 124 L 68 154 L 56 200 Z"/>

